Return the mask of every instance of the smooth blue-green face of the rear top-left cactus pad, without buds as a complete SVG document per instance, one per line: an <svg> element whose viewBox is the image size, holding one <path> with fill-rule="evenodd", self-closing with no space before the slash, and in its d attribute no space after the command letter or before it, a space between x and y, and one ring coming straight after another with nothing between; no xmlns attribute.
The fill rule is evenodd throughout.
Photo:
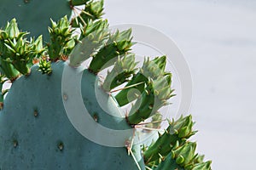
<svg viewBox="0 0 256 170"><path fill-rule="evenodd" d="M67 0L1 0L0 11L0 27L16 18L22 31L31 32L32 37L43 35L47 42L49 19L59 20L72 13Z"/></svg>

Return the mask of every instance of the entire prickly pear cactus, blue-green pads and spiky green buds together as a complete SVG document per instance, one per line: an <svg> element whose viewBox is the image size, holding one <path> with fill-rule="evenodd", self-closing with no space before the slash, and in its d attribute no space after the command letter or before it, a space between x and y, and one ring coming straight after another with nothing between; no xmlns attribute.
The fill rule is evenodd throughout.
<svg viewBox="0 0 256 170"><path fill-rule="evenodd" d="M137 127L145 125L149 132L160 127L159 110L174 96L166 56L145 58L142 68L137 68L131 29L109 31L108 21L101 19L102 1L55 3L59 11L52 8L53 1L42 5L1 2L0 23L9 22L0 30L0 169L210 170L211 161L203 161L195 152L196 144L189 141L196 133L192 116L169 121L165 133L159 133L150 145L150 141L133 143L141 135ZM77 5L84 6L78 9ZM34 11L35 6L40 7L38 14L26 18L25 11ZM11 13L13 8L16 14ZM45 8L52 13L44 13ZM71 18L74 9L79 14ZM34 22L41 15L42 20ZM14 16L17 20L11 19ZM47 26L49 42L44 43L39 35L47 37L43 29ZM23 30L38 37L28 38ZM79 34L74 33L78 30ZM84 61L89 66L81 71ZM100 73L105 69L108 74L102 79ZM65 71L70 81L73 75L81 75L81 99L94 125L131 131L122 146L96 143L73 126L65 105L76 99L76 89L63 90ZM11 88L3 88L5 82ZM131 92L131 88L137 90ZM131 105L131 110L120 116L125 105ZM146 123L150 118L152 122ZM97 128L90 131L101 134Z"/></svg>

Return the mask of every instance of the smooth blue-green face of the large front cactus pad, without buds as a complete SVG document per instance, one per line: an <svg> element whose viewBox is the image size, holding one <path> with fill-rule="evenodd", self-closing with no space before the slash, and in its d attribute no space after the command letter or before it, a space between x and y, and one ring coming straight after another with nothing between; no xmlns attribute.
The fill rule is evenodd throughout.
<svg viewBox="0 0 256 170"><path fill-rule="evenodd" d="M69 122L61 98L63 62L52 65L50 76L37 69L32 67L29 77L17 79L4 100L0 112L0 169L137 170L125 147L95 144ZM95 75L84 71L81 87L87 110L91 115L98 113L98 122L105 127L129 128L125 121L104 113L97 104L95 79ZM108 103L108 107L116 105ZM62 150L58 144L63 144ZM140 164L145 169L143 160Z"/></svg>

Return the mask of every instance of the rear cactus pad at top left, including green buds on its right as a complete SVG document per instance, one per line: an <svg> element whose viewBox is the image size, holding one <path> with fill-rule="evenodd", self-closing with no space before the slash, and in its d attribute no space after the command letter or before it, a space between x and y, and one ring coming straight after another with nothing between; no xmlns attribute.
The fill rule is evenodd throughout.
<svg viewBox="0 0 256 170"><path fill-rule="evenodd" d="M79 8L86 4L87 8ZM103 1L90 0L1 0L0 3L0 23L6 23L15 18L19 20L20 29L30 31L32 37L44 35L49 39L48 26L50 20L59 20L64 15L68 18L73 14L78 14L73 18L73 26L79 26L81 20L96 20L102 16ZM81 13L83 11L83 13Z"/></svg>

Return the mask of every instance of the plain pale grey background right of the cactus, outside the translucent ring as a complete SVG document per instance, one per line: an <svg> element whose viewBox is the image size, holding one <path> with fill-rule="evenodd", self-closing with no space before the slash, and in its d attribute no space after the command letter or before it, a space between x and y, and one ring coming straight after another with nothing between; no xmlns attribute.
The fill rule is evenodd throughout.
<svg viewBox="0 0 256 170"><path fill-rule="evenodd" d="M254 169L256 1L106 0L105 13L110 26L152 26L177 43L193 79L198 152L212 169Z"/></svg>

